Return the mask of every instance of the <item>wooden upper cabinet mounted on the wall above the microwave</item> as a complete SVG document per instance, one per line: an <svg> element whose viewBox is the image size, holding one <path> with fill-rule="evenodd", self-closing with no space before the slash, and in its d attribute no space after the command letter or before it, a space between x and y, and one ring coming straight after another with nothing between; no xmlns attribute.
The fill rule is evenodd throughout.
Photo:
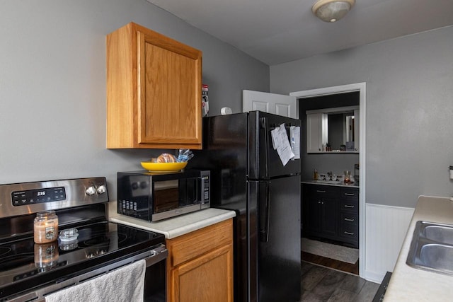
<svg viewBox="0 0 453 302"><path fill-rule="evenodd" d="M129 23L107 35L107 148L202 149L202 52Z"/></svg>

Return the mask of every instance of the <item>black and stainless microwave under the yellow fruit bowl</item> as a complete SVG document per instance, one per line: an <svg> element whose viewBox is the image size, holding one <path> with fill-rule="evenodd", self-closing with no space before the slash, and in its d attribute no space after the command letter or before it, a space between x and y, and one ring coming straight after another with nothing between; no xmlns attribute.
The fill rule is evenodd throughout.
<svg viewBox="0 0 453 302"><path fill-rule="evenodd" d="M117 173L117 212L159 221L210 207L210 171Z"/></svg>

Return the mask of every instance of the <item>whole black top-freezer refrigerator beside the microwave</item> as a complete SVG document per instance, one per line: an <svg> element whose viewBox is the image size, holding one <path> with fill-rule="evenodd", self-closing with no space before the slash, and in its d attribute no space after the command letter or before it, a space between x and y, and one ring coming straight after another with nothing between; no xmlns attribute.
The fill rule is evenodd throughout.
<svg viewBox="0 0 453 302"><path fill-rule="evenodd" d="M204 117L203 149L188 163L211 170L211 207L236 211L234 301L300 299L301 164L283 165L273 148L281 124L289 137L301 122L260 111Z"/></svg>

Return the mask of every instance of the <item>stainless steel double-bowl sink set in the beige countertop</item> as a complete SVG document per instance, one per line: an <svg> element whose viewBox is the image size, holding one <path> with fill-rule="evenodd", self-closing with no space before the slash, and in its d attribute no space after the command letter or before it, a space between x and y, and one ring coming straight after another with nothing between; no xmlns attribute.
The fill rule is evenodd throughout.
<svg viewBox="0 0 453 302"><path fill-rule="evenodd" d="M406 264L453 275L453 225L417 221Z"/></svg>

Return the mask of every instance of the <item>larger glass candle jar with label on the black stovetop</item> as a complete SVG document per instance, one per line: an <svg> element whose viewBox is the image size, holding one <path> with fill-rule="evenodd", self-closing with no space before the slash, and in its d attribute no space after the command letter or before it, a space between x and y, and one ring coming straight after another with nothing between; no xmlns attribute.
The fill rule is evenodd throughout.
<svg viewBox="0 0 453 302"><path fill-rule="evenodd" d="M58 216L55 211L36 214L34 221L35 243L50 243L58 238Z"/></svg>

